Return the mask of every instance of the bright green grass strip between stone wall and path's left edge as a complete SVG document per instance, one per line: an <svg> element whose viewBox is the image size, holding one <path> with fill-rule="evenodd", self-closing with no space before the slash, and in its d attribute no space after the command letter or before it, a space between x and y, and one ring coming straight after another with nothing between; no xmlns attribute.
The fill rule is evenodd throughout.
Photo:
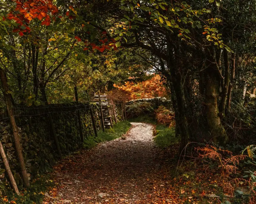
<svg viewBox="0 0 256 204"><path fill-rule="evenodd" d="M128 121L116 123L113 128L105 129L105 132L98 132L98 137L90 136L85 139L83 147L90 149L95 147L100 142L111 141L113 139L119 138L124 133L126 133L130 127L131 124Z"/></svg>

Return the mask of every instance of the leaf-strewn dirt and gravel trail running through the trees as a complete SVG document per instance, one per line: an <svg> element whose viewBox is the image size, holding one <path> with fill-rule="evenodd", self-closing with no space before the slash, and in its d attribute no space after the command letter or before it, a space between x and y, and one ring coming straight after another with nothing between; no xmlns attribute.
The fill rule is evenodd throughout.
<svg viewBox="0 0 256 204"><path fill-rule="evenodd" d="M131 124L125 139L83 150L56 166L57 190L45 203L179 203L153 126Z"/></svg>

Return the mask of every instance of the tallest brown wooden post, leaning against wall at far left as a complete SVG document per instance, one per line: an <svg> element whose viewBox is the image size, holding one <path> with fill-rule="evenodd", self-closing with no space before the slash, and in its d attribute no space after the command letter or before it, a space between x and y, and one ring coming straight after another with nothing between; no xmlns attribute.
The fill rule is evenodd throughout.
<svg viewBox="0 0 256 204"><path fill-rule="evenodd" d="M22 146L19 141L18 127L16 125L16 121L15 121L14 114L13 114L13 109L12 109L12 104L11 104L11 94L9 93L5 72L1 68L0 68L0 78L1 78L2 87L3 87L3 94L5 97L5 105L6 105L8 115L9 115L12 131L13 131L14 144L15 144L17 156L18 156L19 163L20 163L23 182L24 182L25 186L28 187L29 186L28 175L27 175L24 157L22 155Z"/></svg>

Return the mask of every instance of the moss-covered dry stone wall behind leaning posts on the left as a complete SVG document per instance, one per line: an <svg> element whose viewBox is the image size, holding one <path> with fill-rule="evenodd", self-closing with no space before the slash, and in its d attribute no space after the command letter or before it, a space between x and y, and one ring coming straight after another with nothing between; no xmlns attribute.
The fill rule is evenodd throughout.
<svg viewBox="0 0 256 204"><path fill-rule="evenodd" d="M80 109L83 136L94 135L89 108L92 108L97 129L100 129L98 108L89 104L54 104L50 112L55 131L60 143L61 152L67 155L81 148L77 110ZM50 170L58 161L56 144L50 136L47 108L44 106L20 107L16 123L23 147L27 172L31 178ZM0 121L0 139L4 146L10 167L18 185L21 184L20 167L17 160L12 131L8 119ZM0 178L4 177L4 165L0 163Z"/></svg>

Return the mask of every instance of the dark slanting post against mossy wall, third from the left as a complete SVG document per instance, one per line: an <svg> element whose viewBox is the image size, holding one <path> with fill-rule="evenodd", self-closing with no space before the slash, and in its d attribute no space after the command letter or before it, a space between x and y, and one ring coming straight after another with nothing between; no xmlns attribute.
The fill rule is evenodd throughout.
<svg viewBox="0 0 256 204"><path fill-rule="evenodd" d="M48 118L49 118L49 123L50 123L50 134L54 138L60 160L62 160L60 144L59 144L58 137L57 137L56 132L55 132L54 123L53 123L53 120L52 120L52 117L51 117L51 111L50 111L50 106L49 106L48 101L47 101L47 97L46 97L46 93L45 93L45 87L42 83L40 83L39 86L40 86L40 91L42 93L43 101L45 102L45 105L47 106Z"/></svg>

